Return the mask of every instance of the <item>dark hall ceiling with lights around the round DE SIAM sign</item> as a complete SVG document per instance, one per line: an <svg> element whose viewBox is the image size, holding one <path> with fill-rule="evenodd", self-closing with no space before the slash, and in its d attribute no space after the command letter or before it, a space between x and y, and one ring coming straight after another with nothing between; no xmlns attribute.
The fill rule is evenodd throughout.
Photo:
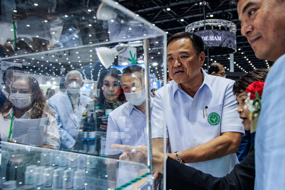
<svg viewBox="0 0 285 190"><path fill-rule="evenodd" d="M205 19L230 20L237 25L237 52L234 53L235 72L250 72L254 68L267 68L272 65L272 62L260 60L254 55L246 37L240 33L237 7L229 0L117 0L117 2L164 30L168 38L172 34L185 31L188 24L204 20L205 9ZM210 55L209 64L214 61L223 64L228 71L229 55ZM206 59L205 62L207 63L208 60ZM203 67L206 69L207 65Z"/></svg>

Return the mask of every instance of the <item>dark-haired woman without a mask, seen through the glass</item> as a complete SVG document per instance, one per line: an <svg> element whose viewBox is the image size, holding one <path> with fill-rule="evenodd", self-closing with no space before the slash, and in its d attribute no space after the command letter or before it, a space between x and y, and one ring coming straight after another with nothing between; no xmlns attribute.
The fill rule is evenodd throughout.
<svg viewBox="0 0 285 190"><path fill-rule="evenodd" d="M100 93L95 103L99 104L100 110L104 112L97 112L98 117L107 116L107 111L114 110L126 102L120 80L121 72L118 69L109 68L101 73L97 84ZM107 131L107 121L99 119L97 126L100 126L101 131Z"/></svg>

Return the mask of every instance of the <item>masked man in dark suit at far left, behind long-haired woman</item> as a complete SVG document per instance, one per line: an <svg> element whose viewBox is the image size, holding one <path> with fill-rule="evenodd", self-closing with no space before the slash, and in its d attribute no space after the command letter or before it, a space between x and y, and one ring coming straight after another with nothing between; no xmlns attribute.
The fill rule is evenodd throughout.
<svg viewBox="0 0 285 190"><path fill-rule="evenodd" d="M2 79L5 84L5 88L2 88L0 91L0 109L3 107L5 101L9 97L10 87L13 80L22 74L24 74L23 69L18 66L10 66L4 71Z"/></svg>

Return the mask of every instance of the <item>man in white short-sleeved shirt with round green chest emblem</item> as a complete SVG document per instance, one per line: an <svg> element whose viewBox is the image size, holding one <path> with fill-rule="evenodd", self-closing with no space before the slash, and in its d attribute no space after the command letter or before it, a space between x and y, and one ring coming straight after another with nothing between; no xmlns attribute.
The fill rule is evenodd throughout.
<svg viewBox="0 0 285 190"><path fill-rule="evenodd" d="M153 146L163 151L165 111L168 156L221 177L238 163L235 153L244 128L232 94L234 81L205 73L203 51L204 42L195 34L181 32L168 40L167 66L173 80L155 92Z"/></svg>

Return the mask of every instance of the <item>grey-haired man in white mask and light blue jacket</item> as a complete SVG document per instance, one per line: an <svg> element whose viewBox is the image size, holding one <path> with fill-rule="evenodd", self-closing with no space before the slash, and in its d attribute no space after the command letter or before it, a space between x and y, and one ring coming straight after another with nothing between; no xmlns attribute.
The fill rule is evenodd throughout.
<svg viewBox="0 0 285 190"><path fill-rule="evenodd" d="M58 119L61 149L69 150L75 145L85 105L92 101L87 96L80 96L79 90L83 84L79 71L69 71L64 81L67 90L62 95L49 99L49 108Z"/></svg>

